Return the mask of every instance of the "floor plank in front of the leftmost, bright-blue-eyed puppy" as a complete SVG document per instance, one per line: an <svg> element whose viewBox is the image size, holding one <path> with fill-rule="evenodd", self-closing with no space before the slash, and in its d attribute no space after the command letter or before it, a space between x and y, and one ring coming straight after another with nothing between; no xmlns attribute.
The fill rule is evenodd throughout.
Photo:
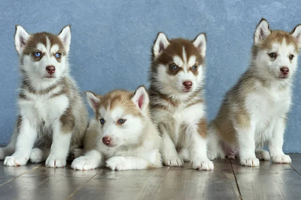
<svg viewBox="0 0 301 200"><path fill-rule="evenodd" d="M2 199L65 199L102 169L73 170L45 165L0 187Z"/></svg>

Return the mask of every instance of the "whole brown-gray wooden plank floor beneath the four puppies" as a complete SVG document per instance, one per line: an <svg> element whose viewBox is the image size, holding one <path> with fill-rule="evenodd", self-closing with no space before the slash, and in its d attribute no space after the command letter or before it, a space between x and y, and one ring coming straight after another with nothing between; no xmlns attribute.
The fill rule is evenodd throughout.
<svg viewBox="0 0 301 200"><path fill-rule="evenodd" d="M0 162L0 199L301 199L301 154L291 164L214 160L213 171L185 167L112 171L7 167Z"/></svg>

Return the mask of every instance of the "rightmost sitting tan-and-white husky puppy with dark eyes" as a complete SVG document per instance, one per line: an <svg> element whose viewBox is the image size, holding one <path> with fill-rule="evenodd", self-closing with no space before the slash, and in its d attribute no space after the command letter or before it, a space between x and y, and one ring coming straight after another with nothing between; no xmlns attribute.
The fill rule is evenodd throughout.
<svg viewBox="0 0 301 200"><path fill-rule="evenodd" d="M290 163L282 151L293 74L301 47L301 24L291 32L256 27L251 63L226 93L208 130L208 157L235 157L245 166L259 159ZM267 144L269 152L263 150Z"/></svg>

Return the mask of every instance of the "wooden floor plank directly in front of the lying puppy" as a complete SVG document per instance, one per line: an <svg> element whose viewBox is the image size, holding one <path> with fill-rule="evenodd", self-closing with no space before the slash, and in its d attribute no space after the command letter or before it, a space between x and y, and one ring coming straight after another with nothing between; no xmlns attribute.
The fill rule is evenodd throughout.
<svg viewBox="0 0 301 200"><path fill-rule="evenodd" d="M70 199L154 199L169 167L114 171L105 168Z"/></svg>

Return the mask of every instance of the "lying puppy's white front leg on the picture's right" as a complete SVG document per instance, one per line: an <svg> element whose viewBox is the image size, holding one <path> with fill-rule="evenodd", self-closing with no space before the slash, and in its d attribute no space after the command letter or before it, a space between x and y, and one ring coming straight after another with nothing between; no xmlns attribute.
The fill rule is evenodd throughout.
<svg viewBox="0 0 301 200"><path fill-rule="evenodd" d="M147 159L135 156L114 156L106 161L106 166L112 170L152 168Z"/></svg>

